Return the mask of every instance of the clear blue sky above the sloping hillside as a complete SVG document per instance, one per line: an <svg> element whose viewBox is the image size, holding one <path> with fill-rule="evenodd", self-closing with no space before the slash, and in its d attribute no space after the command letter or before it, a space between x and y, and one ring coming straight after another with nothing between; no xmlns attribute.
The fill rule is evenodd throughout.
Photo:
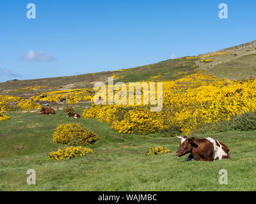
<svg viewBox="0 0 256 204"><path fill-rule="evenodd" d="M28 19L28 3L36 19ZM218 17L220 3L228 19ZM255 0L3 0L0 82L131 68L255 39Z"/></svg>

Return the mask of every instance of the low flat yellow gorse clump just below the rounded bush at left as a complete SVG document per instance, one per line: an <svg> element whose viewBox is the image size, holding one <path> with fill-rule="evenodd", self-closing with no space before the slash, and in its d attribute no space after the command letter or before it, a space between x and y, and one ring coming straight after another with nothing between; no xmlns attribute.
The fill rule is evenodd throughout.
<svg viewBox="0 0 256 204"><path fill-rule="evenodd" d="M74 157L82 157L86 156L87 154L93 153L92 149L84 148L84 147L66 147L65 149L59 149L56 152L50 152L48 154L48 159L56 159L62 160L67 158L74 158Z"/></svg>

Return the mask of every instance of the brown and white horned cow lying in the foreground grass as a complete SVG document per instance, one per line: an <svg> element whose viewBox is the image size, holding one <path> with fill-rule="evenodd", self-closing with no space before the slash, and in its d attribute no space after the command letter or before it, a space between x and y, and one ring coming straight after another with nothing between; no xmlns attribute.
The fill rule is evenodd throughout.
<svg viewBox="0 0 256 204"><path fill-rule="evenodd" d="M214 159L227 159L230 157L230 150L220 140L189 138L188 136L177 137L181 139L179 149L175 154L178 157L188 153L190 153L188 159L195 159L196 161L213 161Z"/></svg>

